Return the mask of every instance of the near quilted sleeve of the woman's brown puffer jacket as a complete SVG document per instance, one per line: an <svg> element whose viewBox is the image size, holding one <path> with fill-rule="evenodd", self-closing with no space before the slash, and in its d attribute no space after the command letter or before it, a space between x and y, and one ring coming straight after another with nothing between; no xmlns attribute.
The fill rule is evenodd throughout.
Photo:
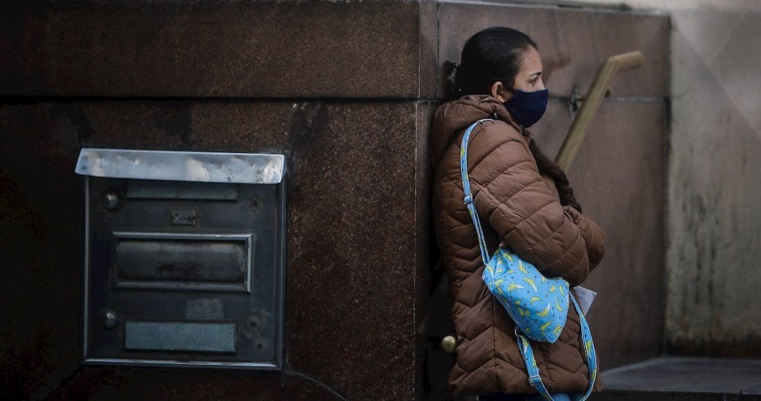
<svg viewBox="0 0 761 401"><path fill-rule="evenodd" d="M584 231L592 239L596 230L552 196L515 129L495 122L474 133L468 169L481 218L543 274L584 282L591 268Z"/></svg>

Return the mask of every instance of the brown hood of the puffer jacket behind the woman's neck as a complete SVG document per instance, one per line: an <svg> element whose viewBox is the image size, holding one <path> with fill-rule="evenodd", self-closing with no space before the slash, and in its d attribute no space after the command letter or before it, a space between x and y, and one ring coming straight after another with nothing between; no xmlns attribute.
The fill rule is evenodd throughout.
<svg viewBox="0 0 761 401"><path fill-rule="evenodd" d="M431 128L431 168L435 171L441 157L453 138L459 136L467 126L479 119L499 119L508 123L524 136L528 132L518 126L505 110L505 106L488 95L468 95L449 103L444 103L436 110Z"/></svg>

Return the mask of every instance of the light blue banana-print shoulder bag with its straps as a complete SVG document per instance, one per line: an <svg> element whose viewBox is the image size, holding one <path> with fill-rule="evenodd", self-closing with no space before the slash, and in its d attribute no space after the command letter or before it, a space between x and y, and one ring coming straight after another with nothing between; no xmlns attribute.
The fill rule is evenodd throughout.
<svg viewBox="0 0 761 401"><path fill-rule="evenodd" d="M552 396L549 395L542 383L529 339L540 342L556 342L568 316L568 300L573 302L581 320L581 339L584 340L587 366L589 367L589 389L583 396L579 394L581 398L578 399L587 399L592 393L594 379L597 377L597 358L595 358L594 343L587 320L584 318L584 313L575 298L570 296L568 282L563 278L546 278L536 267L521 260L511 250L498 249L489 258L481 221L476 207L473 205L467 164L470 132L473 132L476 125L485 121L492 121L492 119L479 119L466 129L465 135L463 135L463 144L460 147L460 173L463 177L465 205L467 205L470 217L473 219L473 226L476 228L479 246L481 247L481 258L486 266L482 275L483 281L514 320L515 335L526 362L529 383L546 399L552 399Z"/></svg>

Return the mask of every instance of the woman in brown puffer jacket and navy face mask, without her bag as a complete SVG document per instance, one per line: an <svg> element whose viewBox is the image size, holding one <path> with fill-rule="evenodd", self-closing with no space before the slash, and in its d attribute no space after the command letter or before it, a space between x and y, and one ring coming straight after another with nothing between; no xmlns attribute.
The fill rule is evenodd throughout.
<svg viewBox="0 0 761 401"><path fill-rule="evenodd" d="M454 297L457 355L449 375L455 396L533 399L514 323L484 285L476 231L463 204L460 143L473 129L468 167L489 252L510 247L547 277L572 286L603 256L603 231L581 214L565 173L541 153L525 128L544 113L548 99L542 62L527 35L492 27L468 40L455 75L457 100L436 110L431 164L436 239ZM533 343L543 382L555 399L589 385L580 323L574 308L557 342ZM595 389L600 390L600 375ZM509 395L508 395L509 394ZM539 398L540 399L540 398Z"/></svg>

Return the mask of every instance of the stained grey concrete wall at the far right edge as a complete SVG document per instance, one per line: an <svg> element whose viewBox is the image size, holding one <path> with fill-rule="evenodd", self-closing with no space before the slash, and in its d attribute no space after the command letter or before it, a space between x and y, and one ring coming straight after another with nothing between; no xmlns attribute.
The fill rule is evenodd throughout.
<svg viewBox="0 0 761 401"><path fill-rule="evenodd" d="M672 25L668 350L761 355L761 2L626 4Z"/></svg>

